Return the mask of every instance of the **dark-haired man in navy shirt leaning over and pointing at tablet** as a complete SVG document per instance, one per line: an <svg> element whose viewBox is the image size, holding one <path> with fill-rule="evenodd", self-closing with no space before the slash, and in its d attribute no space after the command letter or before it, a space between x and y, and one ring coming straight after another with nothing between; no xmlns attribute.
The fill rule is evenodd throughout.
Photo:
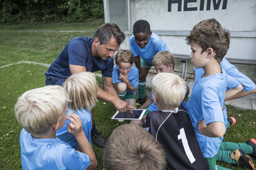
<svg viewBox="0 0 256 170"><path fill-rule="evenodd" d="M123 40L125 34L114 23L101 25L94 38L81 36L72 39L46 71L45 84L61 86L74 73L102 71L104 90L99 88L98 99L111 102L121 112L130 110L127 103L118 97L112 85L113 56ZM93 109L91 113L93 116ZM92 142L99 147L105 147L107 143L107 139L96 130L94 121Z"/></svg>

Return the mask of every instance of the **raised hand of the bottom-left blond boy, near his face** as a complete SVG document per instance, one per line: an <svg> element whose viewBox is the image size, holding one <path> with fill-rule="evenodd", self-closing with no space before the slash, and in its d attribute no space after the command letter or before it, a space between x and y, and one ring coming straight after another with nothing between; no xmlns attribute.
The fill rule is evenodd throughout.
<svg viewBox="0 0 256 170"><path fill-rule="evenodd" d="M67 132L73 134L74 136L83 132L82 121L77 114L69 114L67 120L71 121L71 123L67 125Z"/></svg>

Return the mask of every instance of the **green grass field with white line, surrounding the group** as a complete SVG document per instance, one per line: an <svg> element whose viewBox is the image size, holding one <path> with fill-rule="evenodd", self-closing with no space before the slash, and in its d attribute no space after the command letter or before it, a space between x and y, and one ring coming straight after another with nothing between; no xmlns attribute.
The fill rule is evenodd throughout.
<svg viewBox="0 0 256 170"><path fill-rule="evenodd" d="M47 66L56 59L67 42L76 36L92 37L103 22L103 19L98 19L85 23L0 25L0 169L21 169L21 127L14 117L17 98L26 90L44 86ZM77 32L60 32L62 30ZM99 77L97 80L102 84ZM228 116L235 117L237 123L227 130L224 141L245 142L256 137L256 111L239 110L232 106L227 108ZM114 106L104 101L99 101L94 108L96 127L106 137L122 124L110 119L115 111ZM98 160L96 169L103 169L103 149L93 147ZM240 169L223 162L218 164Z"/></svg>

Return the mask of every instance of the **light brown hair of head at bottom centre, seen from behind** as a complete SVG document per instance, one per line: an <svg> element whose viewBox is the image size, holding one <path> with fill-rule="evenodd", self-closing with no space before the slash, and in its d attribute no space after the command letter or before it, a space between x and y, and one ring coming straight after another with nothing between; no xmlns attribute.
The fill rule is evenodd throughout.
<svg viewBox="0 0 256 170"><path fill-rule="evenodd" d="M116 127L104 149L105 170L165 169L162 146L149 132L134 124Z"/></svg>

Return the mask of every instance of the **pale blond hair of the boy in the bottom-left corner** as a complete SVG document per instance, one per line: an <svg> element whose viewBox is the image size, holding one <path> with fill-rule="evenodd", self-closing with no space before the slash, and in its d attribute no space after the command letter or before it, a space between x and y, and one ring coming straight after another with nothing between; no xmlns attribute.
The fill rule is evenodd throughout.
<svg viewBox="0 0 256 170"><path fill-rule="evenodd" d="M34 137L47 134L61 120L70 101L61 86L44 86L28 90L19 97L14 112L17 121Z"/></svg>

